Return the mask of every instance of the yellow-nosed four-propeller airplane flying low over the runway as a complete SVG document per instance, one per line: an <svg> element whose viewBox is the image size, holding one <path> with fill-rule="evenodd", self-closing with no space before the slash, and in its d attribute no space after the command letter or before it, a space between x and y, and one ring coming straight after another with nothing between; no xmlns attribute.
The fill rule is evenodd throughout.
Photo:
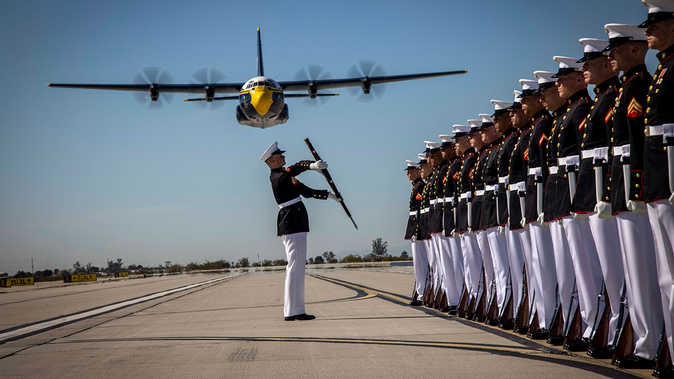
<svg viewBox="0 0 674 379"><path fill-rule="evenodd" d="M164 74L158 75L159 69L152 67L156 78L168 78L173 82L171 76ZM272 78L264 75L264 65L262 64L262 41L260 39L259 26L257 27L257 76L249 79L245 83L206 83L206 84L166 84L158 82L142 84L47 84L54 88L84 88L94 90L117 90L117 91L135 91L146 92L150 94L150 100L156 102L160 100L161 93L189 93L204 94L203 98L186 98L183 101L206 101L211 103L219 100L239 100L237 105L237 121L241 125L251 127L266 128L285 123L288 121L288 105L286 98L311 98L315 99L321 96L338 96L339 94L319 93L319 90L330 90L333 88L345 88L361 86L363 94L370 94L373 85L385 84L390 82L402 82L403 80L414 80L423 78L436 78L438 76L450 76L457 74L466 74L467 70L459 71L441 71L425 74L407 74L396 76L368 76L364 73L358 78L344 79L322 79L309 78L307 80L294 80L290 82L276 82ZM139 74L140 75L140 74ZM156 79L155 78L155 79ZM135 80L134 80L135 82ZM307 93L286 93L306 91ZM236 93L233 96L216 96L216 94ZM139 94L136 93L139 101ZM141 95L147 96L147 95ZM159 103L162 105L162 103Z"/></svg>

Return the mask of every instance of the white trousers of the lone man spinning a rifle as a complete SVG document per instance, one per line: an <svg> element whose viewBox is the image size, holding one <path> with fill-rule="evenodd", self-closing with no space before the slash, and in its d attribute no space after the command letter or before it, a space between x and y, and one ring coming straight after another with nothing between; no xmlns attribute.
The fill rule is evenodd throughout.
<svg viewBox="0 0 674 379"><path fill-rule="evenodd" d="M281 236L286 247L286 284L283 293L283 316L296 316L304 310L304 272L307 262L307 234L294 233Z"/></svg>

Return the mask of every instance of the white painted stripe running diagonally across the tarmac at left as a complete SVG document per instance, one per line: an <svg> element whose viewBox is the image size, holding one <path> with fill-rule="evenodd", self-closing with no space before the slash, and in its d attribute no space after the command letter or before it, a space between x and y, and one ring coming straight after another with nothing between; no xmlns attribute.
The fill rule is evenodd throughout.
<svg viewBox="0 0 674 379"><path fill-rule="evenodd" d="M38 322L37 324L32 324L32 325L26 326L24 328L19 328L19 329L16 329L16 330L11 330L9 332L5 332L5 333L0 334L0 343L3 343L4 341L6 341L8 339L16 339L16 337L20 337L24 334L34 334L35 332L38 332L38 331L43 330L43 329L54 328L55 326L59 326L61 324L67 324L67 323L70 323L70 322L73 322L73 321L82 320L84 318L90 318L90 317L96 316L98 314L103 314L103 313L106 313L106 312L111 312L113 310L117 310L119 308L128 307L129 305L142 303L144 301L156 299L158 297L164 297L166 295L171 295L172 293L185 291L187 289L200 287L202 285L207 285L207 284L210 284L210 283L215 283L215 282L222 281L224 279L233 278L235 276L239 276L239 275L242 275L242 274L243 273L234 274L234 275L230 275L230 276L223 276L222 278L212 279L210 281L195 283L193 285L186 285L185 287L179 287L179 288L176 288L176 289L170 289L168 291L153 293L152 295L139 297L139 298L133 299L133 300L122 301L121 303L116 303L116 304L113 304L113 305L106 305L106 306L101 307L101 308L96 308L95 310L81 312L81 313L78 313L78 314L71 314L70 316L57 318L55 320Z"/></svg>

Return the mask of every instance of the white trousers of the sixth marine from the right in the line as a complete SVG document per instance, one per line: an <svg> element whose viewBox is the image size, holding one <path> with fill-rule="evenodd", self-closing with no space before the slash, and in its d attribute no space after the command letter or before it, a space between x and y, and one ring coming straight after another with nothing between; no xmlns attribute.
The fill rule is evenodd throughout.
<svg viewBox="0 0 674 379"><path fill-rule="evenodd" d="M553 250L551 228L541 227L538 221L529 224L532 246L532 267L534 272L535 312L539 314L539 328L549 328L557 307L557 266ZM534 312L530 314L530 320Z"/></svg>

